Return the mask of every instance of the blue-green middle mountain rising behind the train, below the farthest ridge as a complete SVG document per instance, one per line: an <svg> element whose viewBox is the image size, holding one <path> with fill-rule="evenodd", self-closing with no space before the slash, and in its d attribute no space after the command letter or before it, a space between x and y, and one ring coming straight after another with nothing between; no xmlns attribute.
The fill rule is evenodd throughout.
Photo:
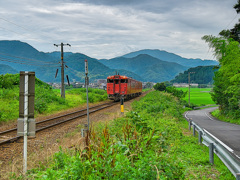
<svg viewBox="0 0 240 180"><path fill-rule="evenodd" d="M120 68L132 71L146 81L163 82L173 79L179 72L187 69L174 62L166 62L147 54L140 54L133 58L118 57L110 60L100 60L109 68Z"/></svg>

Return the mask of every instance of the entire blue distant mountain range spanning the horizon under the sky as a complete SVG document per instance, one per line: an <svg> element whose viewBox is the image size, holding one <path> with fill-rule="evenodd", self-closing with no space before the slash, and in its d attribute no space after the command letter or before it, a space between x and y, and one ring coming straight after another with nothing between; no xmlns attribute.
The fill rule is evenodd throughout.
<svg viewBox="0 0 240 180"><path fill-rule="evenodd" d="M60 52L39 52L21 41L0 41L0 74L35 71L45 82L60 82L55 79L56 69L60 70ZM140 81L163 82L174 79L189 67L217 65L217 61L186 59L160 50L141 50L109 60L97 60L81 53L64 53L67 67L65 74L70 81L84 81L84 60L89 64L89 78L106 79L116 72ZM59 71L60 72L60 71Z"/></svg>

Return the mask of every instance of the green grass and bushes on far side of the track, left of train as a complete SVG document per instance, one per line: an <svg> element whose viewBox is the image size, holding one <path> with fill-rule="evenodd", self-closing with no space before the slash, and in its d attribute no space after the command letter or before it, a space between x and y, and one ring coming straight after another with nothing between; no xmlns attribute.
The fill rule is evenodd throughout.
<svg viewBox="0 0 240 180"><path fill-rule="evenodd" d="M86 103L86 89L66 90L66 99L60 97L60 91L36 78L35 115L77 107ZM89 88L89 102L95 103L107 99L104 90ZM19 114L19 74L0 75L0 122L16 120Z"/></svg>

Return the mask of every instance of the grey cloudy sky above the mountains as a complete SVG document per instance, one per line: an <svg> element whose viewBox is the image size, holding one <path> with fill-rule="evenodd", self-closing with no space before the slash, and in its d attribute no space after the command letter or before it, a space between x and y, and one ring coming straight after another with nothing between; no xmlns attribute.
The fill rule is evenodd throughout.
<svg viewBox="0 0 240 180"><path fill-rule="evenodd" d="M238 21L237 0L0 0L0 40L39 51L113 58L160 49L186 58L214 59L203 35ZM0 50L1 52L1 50Z"/></svg>

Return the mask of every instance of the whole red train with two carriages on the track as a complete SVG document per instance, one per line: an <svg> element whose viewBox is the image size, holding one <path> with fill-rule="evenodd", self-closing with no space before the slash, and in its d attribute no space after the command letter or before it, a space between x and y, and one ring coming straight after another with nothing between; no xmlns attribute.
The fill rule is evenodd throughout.
<svg viewBox="0 0 240 180"><path fill-rule="evenodd" d="M107 94L109 99L118 101L121 96L130 99L142 94L142 82L135 79L114 75L107 78Z"/></svg>

